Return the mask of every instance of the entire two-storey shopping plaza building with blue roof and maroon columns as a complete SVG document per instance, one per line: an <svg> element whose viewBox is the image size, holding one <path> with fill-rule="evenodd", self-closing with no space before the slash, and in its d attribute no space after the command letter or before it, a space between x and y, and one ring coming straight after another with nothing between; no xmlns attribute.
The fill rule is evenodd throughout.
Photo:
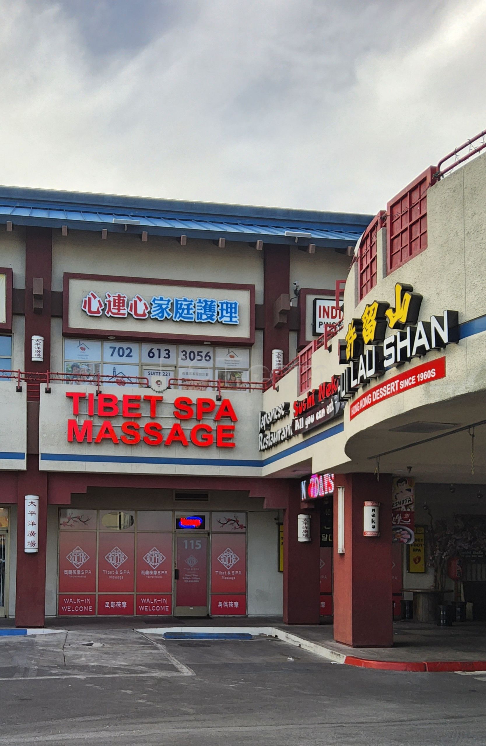
<svg viewBox="0 0 486 746"><path fill-rule="evenodd" d="M479 618L486 160L444 172L374 217L1 188L0 613Z"/></svg>

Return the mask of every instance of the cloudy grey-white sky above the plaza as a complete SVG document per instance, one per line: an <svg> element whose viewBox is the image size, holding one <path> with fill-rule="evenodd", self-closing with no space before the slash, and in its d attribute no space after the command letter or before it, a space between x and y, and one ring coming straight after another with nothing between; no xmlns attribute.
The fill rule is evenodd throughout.
<svg viewBox="0 0 486 746"><path fill-rule="evenodd" d="M0 183L376 213L486 128L486 0L0 0Z"/></svg>

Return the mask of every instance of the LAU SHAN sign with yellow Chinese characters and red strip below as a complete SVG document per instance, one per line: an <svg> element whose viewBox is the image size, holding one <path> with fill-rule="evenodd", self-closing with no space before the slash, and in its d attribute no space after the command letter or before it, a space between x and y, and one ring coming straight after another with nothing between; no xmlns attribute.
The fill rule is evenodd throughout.
<svg viewBox="0 0 486 746"><path fill-rule="evenodd" d="M389 303L373 301L367 304L360 319L349 322L345 339L339 340L339 362L347 365L340 375L340 401L352 398L361 386L366 386L390 368L443 349L446 345L457 344L458 312L445 310L443 316L431 316L428 322L418 321L422 299L411 285L396 283L394 308ZM385 336L387 327L396 333ZM367 345L370 348L366 348ZM383 398L444 375L445 362L442 364L439 360L400 374L388 380L384 389L383 386L371 389L364 395L366 400L359 405L359 400L355 401L350 418Z"/></svg>

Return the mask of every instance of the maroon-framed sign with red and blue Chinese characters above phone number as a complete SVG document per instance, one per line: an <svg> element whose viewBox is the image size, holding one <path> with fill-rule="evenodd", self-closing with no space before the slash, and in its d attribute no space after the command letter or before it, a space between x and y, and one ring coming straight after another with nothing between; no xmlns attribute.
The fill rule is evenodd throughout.
<svg viewBox="0 0 486 746"><path fill-rule="evenodd" d="M64 290L64 333L253 342L254 286L65 275Z"/></svg>

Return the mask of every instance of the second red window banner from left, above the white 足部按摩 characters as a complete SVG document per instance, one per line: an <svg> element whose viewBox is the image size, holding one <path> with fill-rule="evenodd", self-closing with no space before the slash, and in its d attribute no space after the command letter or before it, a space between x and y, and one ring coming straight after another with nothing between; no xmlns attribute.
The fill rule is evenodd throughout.
<svg viewBox="0 0 486 746"><path fill-rule="evenodd" d="M100 593L133 592L134 539L133 533L112 531L99 534L98 591ZM132 599L132 613L133 606ZM98 608L100 608L99 604Z"/></svg>

